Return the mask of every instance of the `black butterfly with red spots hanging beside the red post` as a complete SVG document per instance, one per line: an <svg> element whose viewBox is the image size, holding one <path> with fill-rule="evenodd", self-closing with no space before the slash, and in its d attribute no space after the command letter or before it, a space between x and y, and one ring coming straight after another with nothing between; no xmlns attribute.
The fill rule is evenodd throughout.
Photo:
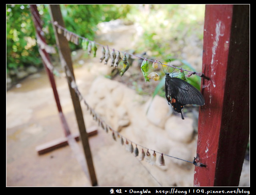
<svg viewBox="0 0 256 195"><path fill-rule="evenodd" d="M165 97L168 104L172 104L174 111L181 113L182 119L184 105L204 105L204 97L194 86L180 78L171 77L169 73L165 76Z"/></svg>

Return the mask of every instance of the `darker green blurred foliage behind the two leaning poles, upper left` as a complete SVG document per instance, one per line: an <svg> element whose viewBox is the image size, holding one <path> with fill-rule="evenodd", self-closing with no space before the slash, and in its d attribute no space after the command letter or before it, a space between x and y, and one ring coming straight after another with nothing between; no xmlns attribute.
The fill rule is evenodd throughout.
<svg viewBox="0 0 256 195"><path fill-rule="evenodd" d="M93 40L99 22L126 16L130 6L122 5L60 5L66 28L80 36ZM29 5L6 5L6 71L41 65L36 45L35 29ZM43 21L44 36L49 45L54 45L54 32L50 24L48 5L38 5ZM49 28L50 27L50 28ZM80 45L70 43L71 50Z"/></svg>

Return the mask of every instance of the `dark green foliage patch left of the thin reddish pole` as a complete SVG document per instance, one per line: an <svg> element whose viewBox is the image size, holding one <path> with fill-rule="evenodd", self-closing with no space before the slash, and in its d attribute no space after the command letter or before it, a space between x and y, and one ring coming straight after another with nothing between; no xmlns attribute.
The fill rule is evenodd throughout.
<svg viewBox="0 0 256 195"><path fill-rule="evenodd" d="M33 25L27 5L6 6L7 71L31 62L40 64Z"/></svg>

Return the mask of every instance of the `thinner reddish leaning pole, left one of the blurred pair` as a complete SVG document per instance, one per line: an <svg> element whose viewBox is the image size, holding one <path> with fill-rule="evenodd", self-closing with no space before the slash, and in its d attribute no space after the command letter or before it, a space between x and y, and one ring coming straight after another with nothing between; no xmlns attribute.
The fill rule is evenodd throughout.
<svg viewBox="0 0 256 195"><path fill-rule="evenodd" d="M42 35L43 31L42 31L41 20L40 20L40 15L38 13L36 5L30 5L30 10L31 10L34 25L35 25L35 28L36 28L36 35L41 39L42 42L44 42L46 44L44 36ZM48 74L48 78L49 78L50 84L52 86L52 91L53 91L54 98L55 98L55 101L56 101L56 105L57 105L57 108L58 108L58 112L59 112L59 115L60 115L60 120L61 120L62 126L64 128L64 133L65 133L66 136L68 136L68 135L70 135L70 130L69 130L68 124L66 122L66 119L65 119L65 117L62 113L62 108L61 108L61 105L60 105L60 99L59 99L58 92L57 92L57 89L56 89L54 76L53 76L52 72L49 70L48 66L46 66L46 64L48 62L50 62L50 57L49 57L49 54L45 51L45 49L42 49L42 53L44 55L44 56L42 56L42 62L44 64L44 68L46 70L46 73ZM48 62L45 62L45 60L48 60Z"/></svg>

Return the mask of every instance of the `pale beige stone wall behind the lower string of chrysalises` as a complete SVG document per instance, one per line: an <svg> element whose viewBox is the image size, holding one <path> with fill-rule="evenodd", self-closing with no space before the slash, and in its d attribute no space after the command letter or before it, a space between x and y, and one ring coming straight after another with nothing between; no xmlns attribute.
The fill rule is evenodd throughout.
<svg viewBox="0 0 256 195"><path fill-rule="evenodd" d="M98 77L92 83L86 101L114 130L134 142L134 146L138 143L189 161L193 161L196 156L193 119L186 116L182 120L180 115L172 113L172 107L166 99L140 96L124 84ZM116 144L120 149L121 144ZM150 167L150 171L155 174L162 175L159 171L164 172L164 177L158 178L160 183L166 186L193 185L192 163L166 156L164 158L165 166L159 166L156 162L155 166ZM170 176L172 179L168 180Z"/></svg>

